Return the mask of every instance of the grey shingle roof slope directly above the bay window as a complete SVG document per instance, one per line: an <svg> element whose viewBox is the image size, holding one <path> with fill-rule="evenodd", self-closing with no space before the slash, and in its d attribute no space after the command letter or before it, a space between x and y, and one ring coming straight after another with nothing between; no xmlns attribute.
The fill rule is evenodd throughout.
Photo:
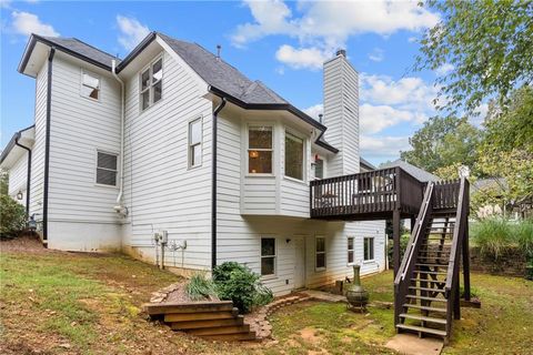
<svg viewBox="0 0 533 355"><path fill-rule="evenodd" d="M288 103L274 91L266 88L261 81L251 81L234 67L217 58L217 55L200 44L180 41L159 32L158 34L208 84L245 103Z"/></svg>

